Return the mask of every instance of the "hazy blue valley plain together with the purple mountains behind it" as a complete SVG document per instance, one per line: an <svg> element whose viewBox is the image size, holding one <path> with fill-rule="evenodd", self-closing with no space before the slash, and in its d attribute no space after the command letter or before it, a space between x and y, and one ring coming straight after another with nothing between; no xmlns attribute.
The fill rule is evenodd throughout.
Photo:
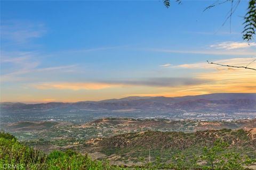
<svg viewBox="0 0 256 170"><path fill-rule="evenodd" d="M84 123L104 117L231 121L256 117L256 94L183 97L126 97L76 103L1 103L1 123L66 121Z"/></svg>

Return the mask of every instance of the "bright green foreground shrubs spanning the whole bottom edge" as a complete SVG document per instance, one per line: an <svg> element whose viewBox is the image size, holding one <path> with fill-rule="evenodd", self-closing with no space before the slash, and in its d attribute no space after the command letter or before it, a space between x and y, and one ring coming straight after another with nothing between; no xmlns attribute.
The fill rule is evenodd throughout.
<svg viewBox="0 0 256 170"><path fill-rule="evenodd" d="M149 132L150 133L150 132ZM107 142L107 141L106 141ZM108 143L109 144L109 143ZM115 144L114 144L115 145ZM75 151L52 151L49 155L22 145L8 133L0 133L0 167L9 169L249 169L254 159L228 150L230 145L215 140L210 147L204 147L201 155L186 157L175 154L169 163L161 158L139 166L110 165L106 160L92 160L87 154ZM119 148L122 146L119 146ZM141 160L142 161L142 160ZM144 161L144 160L143 160Z"/></svg>

